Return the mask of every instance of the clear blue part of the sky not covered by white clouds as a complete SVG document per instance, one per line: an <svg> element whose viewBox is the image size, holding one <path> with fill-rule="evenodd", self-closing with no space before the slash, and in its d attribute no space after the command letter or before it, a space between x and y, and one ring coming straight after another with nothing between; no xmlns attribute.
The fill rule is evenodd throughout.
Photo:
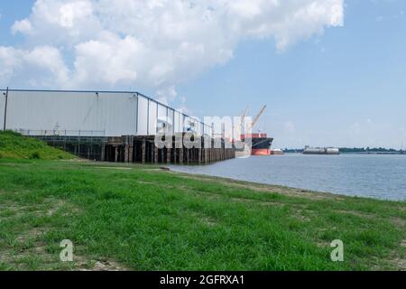
<svg viewBox="0 0 406 289"><path fill-rule="evenodd" d="M0 46L31 45L11 27L31 14L33 3L1 2ZM244 37L232 58L177 80L177 97L170 103L198 117L236 116L247 106L254 115L266 104L257 128L275 137L277 147L400 148L406 145L405 13L402 0L352 0L345 2L342 27L325 28L283 51L273 37ZM156 94L147 81L132 83L112 89ZM9 85L32 83L17 77ZM89 85L97 89L97 83Z"/></svg>

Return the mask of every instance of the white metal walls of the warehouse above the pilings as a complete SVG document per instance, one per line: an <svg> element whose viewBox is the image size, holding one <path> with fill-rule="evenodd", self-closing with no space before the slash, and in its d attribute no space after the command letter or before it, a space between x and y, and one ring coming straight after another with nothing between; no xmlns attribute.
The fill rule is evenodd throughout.
<svg viewBox="0 0 406 289"><path fill-rule="evenodd" d="M5 98L0 96L1 128L4 108ZM7 129L12 130L155 135L158 119L171 123L174 133L191 129L203 135L203 126L197 120L133 92L9 91Z"/></svg>

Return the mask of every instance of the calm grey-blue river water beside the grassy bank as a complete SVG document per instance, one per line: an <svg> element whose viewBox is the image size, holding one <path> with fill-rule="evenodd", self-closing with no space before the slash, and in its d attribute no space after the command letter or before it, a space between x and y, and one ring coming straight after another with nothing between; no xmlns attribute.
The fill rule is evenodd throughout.
<svg viewBox="0 0 406 289"><path fill-rule="evenodd" d="M171 170L262 182L311 191L406 200L406 155L341 154L253 156Z"/></svg>

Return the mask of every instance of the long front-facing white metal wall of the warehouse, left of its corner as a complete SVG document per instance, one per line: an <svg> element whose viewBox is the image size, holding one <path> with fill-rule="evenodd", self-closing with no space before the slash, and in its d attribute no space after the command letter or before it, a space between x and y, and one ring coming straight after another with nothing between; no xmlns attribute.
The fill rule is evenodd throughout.
<svg viewBox="0 0 406 289"><path fill-rule="evenodd" d="M137 97L125 93L10 91L7 126L135 135Z"/></svg>

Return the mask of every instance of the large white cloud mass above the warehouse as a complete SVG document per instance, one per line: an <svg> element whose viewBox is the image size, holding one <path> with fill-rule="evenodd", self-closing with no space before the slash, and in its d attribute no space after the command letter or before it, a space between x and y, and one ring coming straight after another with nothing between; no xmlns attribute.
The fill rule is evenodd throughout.
<svg viewBox="0 0 406 289"><path fill-rule="evenodd" d="M283 51L342 25L343 1L37 0L12 27L27 48L0 47L0 73L53 88L148 87L171 101L174 85L229 61L238 42L272 37Z"/></svg>

